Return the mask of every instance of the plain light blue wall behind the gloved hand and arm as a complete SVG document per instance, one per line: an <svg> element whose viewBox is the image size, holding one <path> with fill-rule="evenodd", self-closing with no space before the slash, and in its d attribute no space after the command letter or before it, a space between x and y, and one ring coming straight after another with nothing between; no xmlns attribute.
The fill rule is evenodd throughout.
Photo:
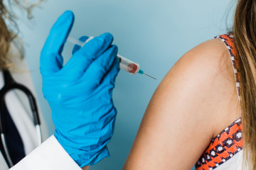
<svg viewBox="0 0 256 170"><path fill-rule="evenodd" d="M53 133L54 125L48 103L41 92L39 56L50 27L65 10L75 13L71 35L100 35L110 32L119 54L141 64L147 74L132 76L121 71L114 89L118 115L112 141L111 158L92 169L122 169L139 123L154 90L166 72L185 52L199 43L226 33L226 16L231 0L48 0L33 10L34 19L21 15L19 25L24 40L26 61L31 69L43 116ZM233 12L228 23L232 23ZM72 45L63 55L70 57Z"/></svg>

